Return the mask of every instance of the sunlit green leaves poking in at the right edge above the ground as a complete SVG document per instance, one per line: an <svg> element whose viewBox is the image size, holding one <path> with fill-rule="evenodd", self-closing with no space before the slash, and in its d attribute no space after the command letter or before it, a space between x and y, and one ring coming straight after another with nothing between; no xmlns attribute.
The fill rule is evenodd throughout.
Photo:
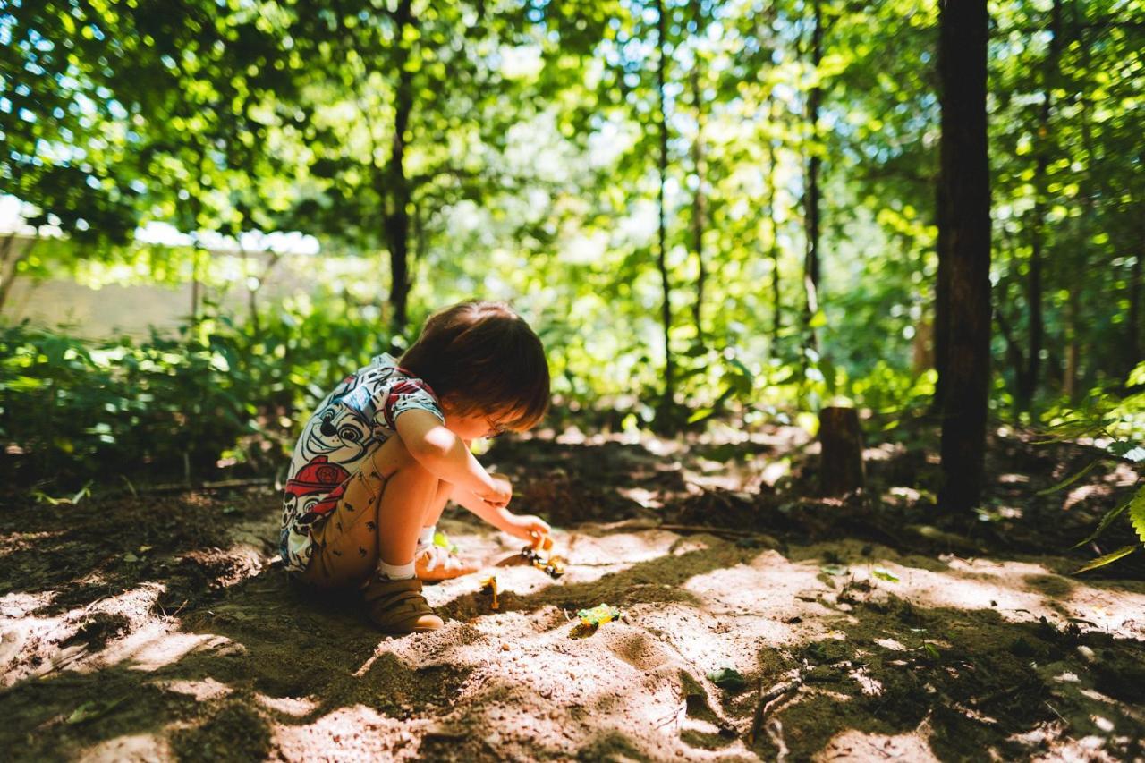
<svg viewBox="0 0 1145 763"><path fill-rule="evenodd" d="M1139 388L1143 385L1145 385L1145 363L1137 365L1132 370L1129 375L1127 386L1132 390L1135 387ZM1142 471L1145 470L1145 392L1130 394L1122 399L1099 394L1083 410L1071 410L1057 417L1051 412L1050 422L1049 436L1042 440L1042 443L1087 438L1101 447L1105 453L1095 458L1084 469L1071 474L1057 485L1040 491L1039 495L1049 495L1063 490L1088 474L1099 464L1111 461L1129 463L1137 472L1136 489L1129 500L1107 511L1093 532L1076 543L1074 548L1076 549L1096 541L1122 514L1126 514L1127 520L1137 534L1137 542L1101 554L1097 559L1077 568L1074 574L1104 567L1110 563L1128 557L1140 548L1145 548L1145 481L1142 480Z"/></svg>

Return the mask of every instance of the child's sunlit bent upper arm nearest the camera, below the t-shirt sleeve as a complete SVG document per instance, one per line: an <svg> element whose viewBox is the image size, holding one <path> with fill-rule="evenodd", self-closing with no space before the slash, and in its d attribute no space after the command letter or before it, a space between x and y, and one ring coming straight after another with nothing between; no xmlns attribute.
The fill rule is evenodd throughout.
<svg viewBox="0 0 1145 763"><path fill-rule="evenodd" d="M493 479L465 441L445 428L436 416L426 410L406 410L394 425L410 455L439 479L457 486L455 491L472 493L493 508L508 505L513 497L508 481Z"/></svg>

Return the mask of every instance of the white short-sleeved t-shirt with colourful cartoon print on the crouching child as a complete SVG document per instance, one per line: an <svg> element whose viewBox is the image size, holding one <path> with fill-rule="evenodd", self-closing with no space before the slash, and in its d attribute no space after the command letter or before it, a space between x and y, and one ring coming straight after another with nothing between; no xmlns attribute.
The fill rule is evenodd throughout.
<svg viewBox="0 0 1145 763"><path fill-rule="evenodd" d="M318 404L294 445L286 475L279 550L287 569L306 569L310 532L330 517L347 481L394 434L397 417L414 408L445 422L429 385L385 354L342 379Z"/></svg>

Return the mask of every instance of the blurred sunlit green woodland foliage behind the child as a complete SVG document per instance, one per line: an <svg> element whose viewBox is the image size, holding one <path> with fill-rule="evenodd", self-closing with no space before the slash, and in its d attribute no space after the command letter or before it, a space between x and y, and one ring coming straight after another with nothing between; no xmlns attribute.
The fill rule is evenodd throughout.
<svg viewBox="0 0 1145 763"><path fill-rule="evenodd" d="M990 404L1037 424L1142 360L1145 5L990 19ZM540 332L558 427L839 398L893 427L934 388L937 25L934 0L9 0L7 458L276 469L334 382L473 296ZM184 327L6 309L47 280L172 289Z"/></svg>

